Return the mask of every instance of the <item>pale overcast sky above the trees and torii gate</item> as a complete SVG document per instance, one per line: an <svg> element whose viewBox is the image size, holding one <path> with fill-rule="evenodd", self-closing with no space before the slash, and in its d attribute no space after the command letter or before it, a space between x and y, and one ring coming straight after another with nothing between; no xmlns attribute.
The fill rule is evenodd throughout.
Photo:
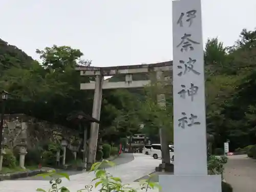
<svg viewBox="0 0 256 192"><path fill-rule="evenodd" d="M255 0L202 0L203 39L232 45L256 27ZM0 0L0 38L38 59L52 45L80 49L93 66L172 59L171 0Z"/></svg>

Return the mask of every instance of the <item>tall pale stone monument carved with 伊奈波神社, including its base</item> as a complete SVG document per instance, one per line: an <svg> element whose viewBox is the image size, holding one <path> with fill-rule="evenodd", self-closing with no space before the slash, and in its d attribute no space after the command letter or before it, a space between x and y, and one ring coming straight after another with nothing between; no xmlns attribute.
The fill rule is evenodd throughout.
<svg viewBox="0 0 256 192"><path fill-rule="evenodd" d="M159 176L163 192L221 192L207 175L201 0L173 2L174 175Z"/></svg>

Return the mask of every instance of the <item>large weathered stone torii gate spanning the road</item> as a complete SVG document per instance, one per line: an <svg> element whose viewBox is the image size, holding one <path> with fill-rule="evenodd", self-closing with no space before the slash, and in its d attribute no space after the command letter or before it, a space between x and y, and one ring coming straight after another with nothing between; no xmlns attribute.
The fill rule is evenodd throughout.
<svg viewBox="0 0 256 192"><path fill-rule="evenodd" d="M142 88L151 83L151 80L137 80L134 81L132 75L135 73L150 73L156 72L157 79L161 78L162 72L173 70L173 62L160 62L154 64L142 64L132 66L116 66L116 67L78 67L81 76L94 76L95 82L81 83L81 90L94 90L93 112L92 117L100 120L102 89L128 89L128 88ZM117 74L125 74L125 81L109 82L109 79L104 80L104 76L114 76ZM170 76L172 73L170 73ZM165 106L164 94L157 96L158 103ZM91 124L91 135L89 143L89 158L88 167L95 161L97 141L98 141L99 124L93 122Z"/></svg>

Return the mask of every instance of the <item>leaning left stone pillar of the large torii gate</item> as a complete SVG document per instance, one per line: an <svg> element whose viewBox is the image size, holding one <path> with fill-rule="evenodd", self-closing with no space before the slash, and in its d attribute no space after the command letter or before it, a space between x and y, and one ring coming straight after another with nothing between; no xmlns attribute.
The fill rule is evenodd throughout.
<svg viewBox="0 0 256 192"><path fill-rule="evenodd" d="M96 76L92 117L97 120L100 119L102 84L103 84L103 76L102 75ZM90 168L92 164L95 162L98 134L99 134L99 124L96 122L91 123L89 158L88 158L88 164L87 164L88 168Z"/></svg>

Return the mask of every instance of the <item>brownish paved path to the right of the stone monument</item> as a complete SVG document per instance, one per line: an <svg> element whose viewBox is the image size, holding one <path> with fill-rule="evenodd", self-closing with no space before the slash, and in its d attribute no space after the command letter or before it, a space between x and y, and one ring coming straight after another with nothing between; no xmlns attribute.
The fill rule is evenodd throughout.
<svg viewBox="0 0 256 192"><path fill-rule="evenodd" d="M230 156L225 166L224 179L233 187L233 192L256 191L256 160L247 155Z"/></svg>

